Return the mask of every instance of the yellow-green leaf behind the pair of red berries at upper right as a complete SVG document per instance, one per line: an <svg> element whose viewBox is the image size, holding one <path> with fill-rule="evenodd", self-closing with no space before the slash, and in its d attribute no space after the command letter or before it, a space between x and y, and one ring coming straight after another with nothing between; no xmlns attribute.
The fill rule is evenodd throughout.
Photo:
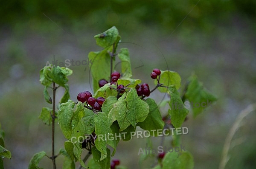
<svg viewBox="0 0 256 169"><path fill-rule="evenodd" d="M177 72L166 70L161 71L160 75L160 84L163 84L164 86L171 86L175 85L176 89L178 90L181 86L181 79L180 75ZM157 79L154 81L154 84L157 85ZM157 88L160 92L168 92L168 89L166 87L158 87Z"/></svg>

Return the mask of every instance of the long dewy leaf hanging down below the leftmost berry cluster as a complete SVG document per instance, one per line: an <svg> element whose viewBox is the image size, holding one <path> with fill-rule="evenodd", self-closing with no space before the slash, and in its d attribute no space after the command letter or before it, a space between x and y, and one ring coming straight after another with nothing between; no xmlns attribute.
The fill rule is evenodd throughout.
<svg viewBox="0 0 256 169"><path fill-rule="evenodd" d="M111 139L109 139L110 134L113 135L108 116L105 113L98 113L94 118L95 122L95 134L97 139L95 140L95 146L101 152L100 160L102 161L108 155L107 153L107 143L113 146ZM115 147L113 147L115 149Z"/></svg>

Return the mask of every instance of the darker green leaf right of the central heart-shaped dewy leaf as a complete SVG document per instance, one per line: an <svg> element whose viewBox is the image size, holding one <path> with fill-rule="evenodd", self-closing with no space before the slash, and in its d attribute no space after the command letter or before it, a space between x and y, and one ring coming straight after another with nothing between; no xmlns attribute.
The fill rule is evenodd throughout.
<svg viewBox="0 0 256 169"><path fill-rule="evenodd" d="M157 136L156 130L163 130L164 122L156 102L153 99L148 98L146 99L146 103L149 106L148 116L143 122L138 123L138 126L144 130L150 131L151 135Z"/></svg>

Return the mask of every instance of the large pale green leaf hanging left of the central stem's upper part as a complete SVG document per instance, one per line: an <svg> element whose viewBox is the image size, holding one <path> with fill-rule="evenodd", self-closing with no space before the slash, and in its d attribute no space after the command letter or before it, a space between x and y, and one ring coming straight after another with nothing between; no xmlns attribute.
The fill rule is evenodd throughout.
<svg viewBox="0 0 256 169"><path fill-rule="evenodd" d="M108 80L110 77L110 55L107 50L102 50L100 52L90 52L88 58L92 60L90 73L93 78L93 91L96 92L99 89L99 80Z"/></svg>

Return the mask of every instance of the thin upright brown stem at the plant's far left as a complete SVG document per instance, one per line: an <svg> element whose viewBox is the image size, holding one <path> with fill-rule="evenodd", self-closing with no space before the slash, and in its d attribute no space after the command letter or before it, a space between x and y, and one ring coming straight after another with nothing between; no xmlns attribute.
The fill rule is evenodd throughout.
<svg viewBox="0 0 256 169"><path fill-rule="evenodd" d="M54 152L54 130L55 130L55 96L57 87L55 87L55 82L52 82L52 90L53 90L53 101L52 101L52 167L56 169L55 164L55 152Z"/></svg>

